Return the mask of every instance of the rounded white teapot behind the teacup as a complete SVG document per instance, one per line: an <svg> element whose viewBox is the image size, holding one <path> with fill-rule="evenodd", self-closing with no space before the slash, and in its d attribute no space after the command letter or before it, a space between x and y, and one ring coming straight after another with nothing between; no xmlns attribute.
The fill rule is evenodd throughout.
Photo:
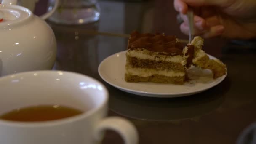
<svg viewBox="0 0 256 144"><path fill-rule="evenodd" d="M44 21L56 10L40 17L16 5L17 0L0 4L0 77L17 72L52 69L56 60L56 38Z"/></svg>

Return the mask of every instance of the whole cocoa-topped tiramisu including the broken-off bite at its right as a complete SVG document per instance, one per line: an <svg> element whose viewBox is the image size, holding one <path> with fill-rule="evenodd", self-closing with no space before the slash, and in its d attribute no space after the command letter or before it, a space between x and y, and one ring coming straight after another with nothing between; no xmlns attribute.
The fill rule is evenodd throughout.
<svg viewBox="0 0 256 144"><path fill-rule="evenodd" d="M195 37L183 46L175 36L131 33L126 52L125 81L184 84L192 64L211 69L214 78L226 74L226 66L210 60L202 50L203 39Z"/></svg>

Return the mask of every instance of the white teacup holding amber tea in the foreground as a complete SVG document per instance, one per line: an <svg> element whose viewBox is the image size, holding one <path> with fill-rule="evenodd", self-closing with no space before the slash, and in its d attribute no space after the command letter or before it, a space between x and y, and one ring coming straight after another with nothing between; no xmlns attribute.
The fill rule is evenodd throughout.
<svg viewBox="0 0 256 144"><path fill-rule="evenodd" d="M137 144L134 125L107 115L108 91L97 80L73 72L35 71L0 78L0 115L13 109L59 104L86 111L45 122L0 120L0 144L94 144L104 130L119 133L125 144Z"/></svg>

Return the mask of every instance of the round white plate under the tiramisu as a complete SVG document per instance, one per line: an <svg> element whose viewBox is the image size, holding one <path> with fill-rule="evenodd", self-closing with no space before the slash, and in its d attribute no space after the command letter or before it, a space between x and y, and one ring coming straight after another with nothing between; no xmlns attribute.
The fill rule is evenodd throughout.
<svg viewBox="0 0 256 144"><path fill-rule="evenodd" d="M127 83L125 75L126 51L115 53L99 65L98 72L101 78L110 85L136 95L150 97L180 97L200 93L221 83L227 75L215 80L209 70L200 70L195 67L189 69L188 75L191 81L184 85L159 84L159 83ZM210 59L216 59L210 56Z"/></svg>

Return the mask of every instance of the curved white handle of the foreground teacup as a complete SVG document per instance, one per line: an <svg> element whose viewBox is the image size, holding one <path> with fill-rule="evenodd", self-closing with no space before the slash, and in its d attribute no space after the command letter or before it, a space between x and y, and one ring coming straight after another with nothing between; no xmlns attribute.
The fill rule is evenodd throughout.
<svg viewBox="0 0 256 144"><path fill-rule="evenodd" d="M139 134L135 126L121 117L107 117L96 125L94 137L96 141L101 141L105 130L113 130L121 135L125 144L138 144Z"/></svg>

